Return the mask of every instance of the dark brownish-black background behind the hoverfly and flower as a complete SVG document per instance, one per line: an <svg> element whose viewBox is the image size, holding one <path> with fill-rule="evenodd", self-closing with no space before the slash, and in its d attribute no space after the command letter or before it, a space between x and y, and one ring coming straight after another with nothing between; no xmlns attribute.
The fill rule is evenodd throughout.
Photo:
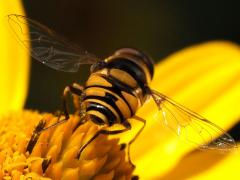
<svg viewBox="0 0 240 180"><path fill-rule="evenodd" d="M240 1L25 0L27 16L106 57L136 47L159 61L183 47L208 40L240 43ZM55 111L64 87L84 83L88 67L76 74L32 61L26 108Z"/></svg>

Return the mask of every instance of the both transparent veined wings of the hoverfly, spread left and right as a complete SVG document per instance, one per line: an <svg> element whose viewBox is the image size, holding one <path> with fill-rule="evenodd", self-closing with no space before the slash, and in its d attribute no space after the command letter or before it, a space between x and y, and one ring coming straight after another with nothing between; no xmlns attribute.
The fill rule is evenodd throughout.
<svg viewBox="0 0 240 180"><path fill-rule="evenodd" d="M32 57L53 69L77 72L82 64L100 61L96 56L27 17L11 14L8 15L8 23L23 46L27 48L31 44ZM29 27L29 31L23 29L25 25ZM200 149L229 151L237 147L234 139L214 123L165 95L150 91L162 116L161 122L183 140Z"/></svg>

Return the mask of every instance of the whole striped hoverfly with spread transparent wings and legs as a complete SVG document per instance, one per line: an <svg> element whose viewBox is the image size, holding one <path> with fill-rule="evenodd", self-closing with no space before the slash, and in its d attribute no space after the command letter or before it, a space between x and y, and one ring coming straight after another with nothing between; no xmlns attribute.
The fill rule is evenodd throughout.
<svg viewBox="0 0 240 180"><path fill-rule="evenodd" d="M131 124L128 119L136 117L136 111L149 98L155 101L162 122L187 142L197 145L200 149L228 151L236 148L234 139L220 127L149 87L154 74L154 64L144 53L132 48L123 48L100 60L27 17L11 14L8 15L8 21L21 44L28 47L30 43L32 57L41 63L65 72L77 72L82 64L91 65L90 76L85 86L75 83L64 90L64 119L43 129L54 127L69 119L66 100L68 93L79 97L82 123L91 120L106 128L99 130L80 148L77 158L100 134L112 135L130 130ZM25 24L29 26L29 32L23 31L22 26ZM143 126L128 143L130 163L130 145L146 124L146 120L140 117L135 119L142 122ZM113 131L107 129L115 124L124 128ZM194 132L194 137L188 136L189 132Z"/></svg>

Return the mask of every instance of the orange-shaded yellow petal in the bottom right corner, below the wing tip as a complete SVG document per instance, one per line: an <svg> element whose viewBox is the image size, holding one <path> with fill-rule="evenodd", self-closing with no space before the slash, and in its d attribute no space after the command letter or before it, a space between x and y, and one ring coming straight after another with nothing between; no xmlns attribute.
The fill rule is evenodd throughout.
<svg viewBox="0 0 240 180"><path fill-rule="evenodd" d="M196 151L184 157L161 179L239 179L239 153Z"/></svg>

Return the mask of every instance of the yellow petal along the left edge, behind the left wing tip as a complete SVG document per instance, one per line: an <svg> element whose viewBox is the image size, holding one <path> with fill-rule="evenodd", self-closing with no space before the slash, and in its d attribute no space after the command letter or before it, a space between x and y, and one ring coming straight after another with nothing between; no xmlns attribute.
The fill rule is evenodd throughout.
<svg viewBox="0 0 240 180"><path fill-rule="evenodd" d="M20 0L0 3L0 114L23 107L29 71L29 54L15 39L7 25L8 14L24 15ZM22 27L27 29L27 27Z"/></svg>

